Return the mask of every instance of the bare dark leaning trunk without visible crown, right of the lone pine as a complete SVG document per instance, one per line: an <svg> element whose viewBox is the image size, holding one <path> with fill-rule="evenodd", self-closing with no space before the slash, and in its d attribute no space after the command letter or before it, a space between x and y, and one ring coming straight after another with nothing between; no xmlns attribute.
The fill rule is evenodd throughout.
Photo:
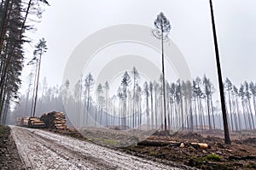
<svg viewBox="0 0 256 170"><path fill-rule="evenodd" d="M225 139L225 144L231 144L227 112L225 107L224 86L223 86L222 73L221 73L221 67L219 62L218 41L217 41L217 33L216 33L215 20L214 20L214 14L213 14L212 0L210 0L210 8L211 8L211 16L212 16L212 31L213 31L213 38L214 38L214 44L215 44L216 64L218 69L218 86L219 86L221 108L222 108L222 115L223 115L223 122L224 122L224 139Z"/></svg>

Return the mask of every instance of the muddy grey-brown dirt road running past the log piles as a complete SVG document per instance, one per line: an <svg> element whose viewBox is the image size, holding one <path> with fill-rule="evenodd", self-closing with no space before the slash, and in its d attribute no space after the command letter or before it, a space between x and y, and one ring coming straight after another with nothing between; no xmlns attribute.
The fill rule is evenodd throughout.
<svg viewBox="0 0 256 170"><path fill-rule="evenodd" d="M11 127L27 169L177 169L39 129Z"/></svg>

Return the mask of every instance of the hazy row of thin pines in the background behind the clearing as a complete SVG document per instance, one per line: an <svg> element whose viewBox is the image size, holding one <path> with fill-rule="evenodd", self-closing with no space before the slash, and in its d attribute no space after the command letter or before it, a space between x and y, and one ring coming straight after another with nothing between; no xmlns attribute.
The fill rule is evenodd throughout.
<svg viewBox="0 0 256 170"><path fill-rule="evenodd" d="M44 79L40 85L36 116L47 111L68 110L67 116L76 127L164 130L166 117L168 130L223 129L222 113L214 97L216 90L208 77L195 77L191 82L166 81L166 116L161 79L162 76L159 81L145 81L135 67L125 71L119 87L110 87L108 82L96 84L90 73L81 77L73 89L70 89L68 80L59 88L48 88ZM116 94L110 94L110 88L117 88ZM28 88L27 92L31 89ZM230 130L253 130L256 83L244 82L236 88L227 78L224 89ZM30 116L31 102L32 95L22 95L20 107L15 112Z"/></svg>

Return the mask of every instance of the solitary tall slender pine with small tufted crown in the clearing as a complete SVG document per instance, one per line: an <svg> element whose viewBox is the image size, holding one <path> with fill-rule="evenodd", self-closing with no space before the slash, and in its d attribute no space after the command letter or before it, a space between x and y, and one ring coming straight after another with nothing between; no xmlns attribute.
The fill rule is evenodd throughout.
<svg viewBox="0 0 256 170"><path fill-rule="evenodd" d="M165 131L167 131L166 122L166 78L165 78L165 54L164 54L164 42L168 39L169 32L171 31L170 21L166 18L165 14L162 12L157 15L156 20L154 20L154 37L160 39L162 48L162 86L163 86L163 98L164 98L164 123Z"/></svg>

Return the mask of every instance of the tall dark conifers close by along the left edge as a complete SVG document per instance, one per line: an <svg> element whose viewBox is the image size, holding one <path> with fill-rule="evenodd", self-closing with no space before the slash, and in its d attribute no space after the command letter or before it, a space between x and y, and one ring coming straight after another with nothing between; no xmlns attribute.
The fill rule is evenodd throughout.
<svg viewBox="0 0 256 170"><path fill-rule="evenodd" d="M0 119L5 122L9 104L18 99L20 74L24 62L24 36L29 15L42 14L39 2L46 0L2 0L0 3Z"/></svg>

